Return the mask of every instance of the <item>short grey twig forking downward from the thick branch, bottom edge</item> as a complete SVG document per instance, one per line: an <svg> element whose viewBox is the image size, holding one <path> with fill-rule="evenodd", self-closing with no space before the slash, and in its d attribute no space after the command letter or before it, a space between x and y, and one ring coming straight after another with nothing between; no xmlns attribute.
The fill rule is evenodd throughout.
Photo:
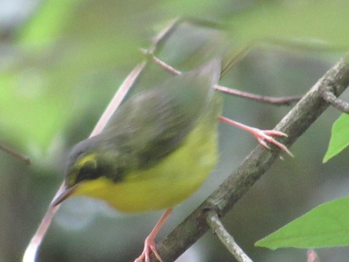
<svg viewBox="0 0 349 262"><path fill-rule="evenodd" d="M235 242L233 237L228 233L224 228L221 220L218 218L218 215L213 210L210 210L207 213L207 223L221 240L223 245L229 250L229 252L236 258L239 262L253 262L250 257L244 252L244 250L239 247Z"/></svg>

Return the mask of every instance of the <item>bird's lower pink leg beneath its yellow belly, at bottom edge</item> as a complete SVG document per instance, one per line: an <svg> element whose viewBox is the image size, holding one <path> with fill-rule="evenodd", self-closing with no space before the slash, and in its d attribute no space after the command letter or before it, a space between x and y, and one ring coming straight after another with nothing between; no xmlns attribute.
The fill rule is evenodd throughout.
<svg viewBox="0 0 349 262"><path fill-rule="evenodd" d="M138 258L136 258L136 260L134 262L141 262L143 259L145 262L150 262L150 253L151 252L154 253L154 255L156 256L156 258L159 261L162 261L159 253L157 253L154 239L155 239L155 236L157 235L157 233L159 232L160 228L165 223L166 218L168 218L168 216L170 216L171 212L172 212L172 209L166 210L166 212L159 219L159 221L157 222L154 229L147 236L146 240L144 240L144 249L143 249L142 254Z"/></svg>

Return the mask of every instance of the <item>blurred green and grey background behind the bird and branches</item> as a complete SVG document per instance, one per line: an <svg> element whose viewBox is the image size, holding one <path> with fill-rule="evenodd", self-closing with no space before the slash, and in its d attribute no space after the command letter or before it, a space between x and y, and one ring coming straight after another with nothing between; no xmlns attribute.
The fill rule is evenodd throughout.
<svg viewBox="0 0 349 262"><path fill-rule="evenodd" d="M217 54L250 52L220 81L247 92L304 94L348 49L346 0L0 0L0 261L20 261L63 179L69 148L89 136L122 80L142 60L140 48L178 16L185 23L158 52L190 70ZM147 68L135 90L169 75ZM348 92L342 95L349 100ZM272 129L290 107L224 96L224 116ZM223 223L254 261L306 261L306 250L271 251L255 241L326 201L348 195L348 151L322 164L332 123L329 108L276 161ZM161 239L203 201L257 145L248 133L220 124L220 163L206 183L178 205ZM65 201L42 243L38 261L133 261L163 211L123 214L87 198ZM317 250L321 261L347 261L347 247ZM178 261L235 261L207 233Z"/></svg>

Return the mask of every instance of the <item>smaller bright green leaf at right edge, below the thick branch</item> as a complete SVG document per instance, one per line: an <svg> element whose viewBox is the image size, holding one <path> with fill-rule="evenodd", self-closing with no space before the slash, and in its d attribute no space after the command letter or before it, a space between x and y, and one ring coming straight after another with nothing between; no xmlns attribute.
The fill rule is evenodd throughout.
<svg viewBox="0 0 349 262"><path fill-rule="evenodd" d="M327 152L322 160L326 163L329 159L339 154L349 145L349 115L342 114L332 126L331 139Z"/></svg>

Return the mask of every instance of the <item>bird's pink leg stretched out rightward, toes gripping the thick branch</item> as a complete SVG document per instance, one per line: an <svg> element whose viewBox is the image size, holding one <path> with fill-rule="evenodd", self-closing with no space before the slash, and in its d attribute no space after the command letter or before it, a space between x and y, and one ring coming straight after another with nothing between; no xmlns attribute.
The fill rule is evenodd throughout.
<svg viewBox="0 0 349 262"><path fill-rule="evenodd" d="M224 116L218 117L218 120L220 120L224 123L235 125L238 128L241 128L241 129L246 130L247 132L250 132L251 134L253 134L253 136L258 140L258 142L262 146L264 146L268 149L270 149L270 147L267 145L267 142L272 143L272 144L280 147L283 151L287 152L291 157L293 157L293 154L288 150L288 148L284 144L280 143L279 141L277 141L273 137L271 137L271 136L287 137L287 134L285 134L283 132L276 131L276 130L260 130L258 128L252 128L251 126L241 124L239 122L233 121L233 120L231 120L227 117L224 117Z"/></svg>

